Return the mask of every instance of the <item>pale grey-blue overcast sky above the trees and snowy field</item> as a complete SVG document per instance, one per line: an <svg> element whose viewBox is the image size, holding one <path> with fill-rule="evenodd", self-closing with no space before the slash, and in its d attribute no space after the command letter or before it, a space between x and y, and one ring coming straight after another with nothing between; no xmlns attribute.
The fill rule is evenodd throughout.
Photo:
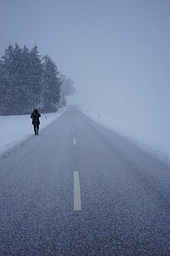
<svg viewBox="0 0 170 256"><path fill-rule="evenodd" d="M72 102L170 106L169 0L0 0L0 38L1 56L9 43L50 55Z"/></svg>

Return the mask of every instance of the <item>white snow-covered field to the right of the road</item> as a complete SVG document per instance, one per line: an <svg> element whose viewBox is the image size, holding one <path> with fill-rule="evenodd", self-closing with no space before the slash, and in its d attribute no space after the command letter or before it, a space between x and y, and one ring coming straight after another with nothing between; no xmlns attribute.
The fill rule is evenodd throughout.
<svg viewBox="0 0 170 256"><path fill-rule="evenodd" d="M170 113L116 113L95 105L80 108L91 119L170 164Z"/></svg>

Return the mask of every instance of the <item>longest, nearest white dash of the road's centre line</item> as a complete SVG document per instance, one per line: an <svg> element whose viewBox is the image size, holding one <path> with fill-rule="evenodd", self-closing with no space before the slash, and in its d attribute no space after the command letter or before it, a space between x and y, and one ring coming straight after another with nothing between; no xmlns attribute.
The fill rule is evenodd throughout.
<svg viewBox="0 0 170 256"><path fill-rule="evenodd" d="M74 172L74 210L75 211L82 210L79 172L77 172L77 171Z"/></svg>

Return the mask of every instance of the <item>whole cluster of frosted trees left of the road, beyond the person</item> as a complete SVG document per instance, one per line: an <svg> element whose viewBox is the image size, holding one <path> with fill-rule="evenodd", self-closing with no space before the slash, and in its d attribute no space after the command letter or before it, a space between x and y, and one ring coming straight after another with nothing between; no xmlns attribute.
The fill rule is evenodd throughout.
<svg viewBox="0 0 170 256"><path fill-rule="evenodd" d="M73 84L49 55L39 55L37 45L9 44L0 60L0 114L26 114L34 108L55 112L66 105L65 96L75 93Z"/></svg>

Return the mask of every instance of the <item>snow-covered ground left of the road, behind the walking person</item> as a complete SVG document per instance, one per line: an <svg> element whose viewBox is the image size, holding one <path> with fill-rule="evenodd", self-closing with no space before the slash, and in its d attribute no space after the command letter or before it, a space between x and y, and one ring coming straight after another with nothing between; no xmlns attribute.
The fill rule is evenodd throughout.
<svg viewBox="0 0 170 256"><path fill-rule="evenodd" d="M62 108L57 113L42 113L40 132L55 119L59 118L64 111L65 108ZM0 154L33 135L30 116L31 114L0 116Z"/></svg>

